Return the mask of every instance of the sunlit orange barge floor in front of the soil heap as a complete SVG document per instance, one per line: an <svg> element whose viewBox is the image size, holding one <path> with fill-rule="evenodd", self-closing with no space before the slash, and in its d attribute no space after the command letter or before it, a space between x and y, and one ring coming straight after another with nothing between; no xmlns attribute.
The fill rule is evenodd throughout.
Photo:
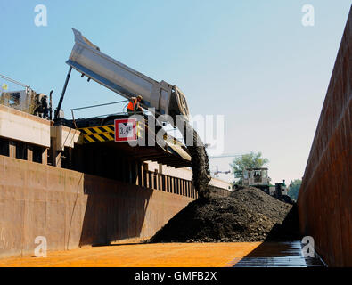
<svg viewBox="0 0 352 285"><path fill-rule="evenodd" d="M221 267L234 265L260 242L114 244L0 259L0 267Z"/></svg>

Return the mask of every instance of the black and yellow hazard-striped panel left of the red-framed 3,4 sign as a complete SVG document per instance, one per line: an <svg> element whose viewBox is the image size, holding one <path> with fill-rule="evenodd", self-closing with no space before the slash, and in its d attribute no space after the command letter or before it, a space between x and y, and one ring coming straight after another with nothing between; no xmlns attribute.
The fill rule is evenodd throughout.
<svg viewBox="0 0 352 285"><path fill-rule="evenodd" d="M89 126L78 128L83 134L83 142L111 142L115 141L115 126Z"/></svg>

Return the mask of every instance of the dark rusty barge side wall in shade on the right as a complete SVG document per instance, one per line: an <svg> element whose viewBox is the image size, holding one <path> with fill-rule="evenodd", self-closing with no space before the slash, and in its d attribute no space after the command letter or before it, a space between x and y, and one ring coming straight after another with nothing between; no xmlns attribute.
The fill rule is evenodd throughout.
<svg viewBox="0 0 352 285"><path fill-rule="evenodd" d="M352 266L352 8L299 191L300 229L328 265Z"/></svg>

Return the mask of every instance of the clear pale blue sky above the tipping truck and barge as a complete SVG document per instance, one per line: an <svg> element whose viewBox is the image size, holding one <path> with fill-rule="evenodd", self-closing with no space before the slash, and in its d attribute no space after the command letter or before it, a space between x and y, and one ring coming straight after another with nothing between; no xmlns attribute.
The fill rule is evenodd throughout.
<svg viewBox="0 0 352 285"><path fill-rule="evenodd" d="M47 27L34 24L37 4L47 7ZM315 8L314 27L301 24L304 4ZM304 173L350 6L350 0L2 0L0 73L37 92L53 89L56 105L73 46L70 28L77 28L103 53L179 86L192 114L225 115L225 153L262 151L273 182L289 181ZM70 118L71 108L119 99L72 72L62 108ZM110 111L116 110L78 117ZM210 162L212 170L228 170L231 158Z"/></svg>

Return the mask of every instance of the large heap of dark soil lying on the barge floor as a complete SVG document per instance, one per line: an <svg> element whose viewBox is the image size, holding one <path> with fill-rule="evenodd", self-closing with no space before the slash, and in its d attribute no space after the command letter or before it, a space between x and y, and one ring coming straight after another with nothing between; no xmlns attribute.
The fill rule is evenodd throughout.
<svg viewBox="0 0 352 285"><path fill-rule="evenodd" d="M149 241L297 240L296 217L290 212L291 208L256 188L233 191L229 197L211 194L208 198L192 201ZM282 235L282 222L289 212L291 224L286 223Z"/></svg>

